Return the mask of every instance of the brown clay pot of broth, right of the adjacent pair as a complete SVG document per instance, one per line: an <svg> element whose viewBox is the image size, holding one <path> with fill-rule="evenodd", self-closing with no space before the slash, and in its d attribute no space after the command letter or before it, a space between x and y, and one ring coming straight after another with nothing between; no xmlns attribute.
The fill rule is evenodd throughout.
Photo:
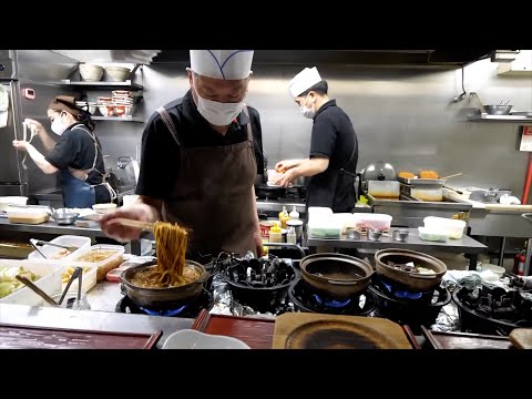
<svg viewBox="0 0 532 399"><path fill-rule="evenodd" d="M429 268L434 274L420 274L396 269L388 263L403 265L413 262L416 266ZM409 249L381 249L375 254L375 266L378 275L402 284L406 287L428 291L440 285L442 276L447 272L447 265L433 256Z"/></svg>

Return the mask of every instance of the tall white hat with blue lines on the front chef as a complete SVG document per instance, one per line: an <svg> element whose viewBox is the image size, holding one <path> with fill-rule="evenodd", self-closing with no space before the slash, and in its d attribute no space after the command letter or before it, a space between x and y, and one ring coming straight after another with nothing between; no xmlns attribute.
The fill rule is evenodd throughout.
<svg viewBox="0 0 532 399"><path fill-rule="evenodd" d="M191 50L191 69L214 79L246 79L252 61L253 50Z"/></svg>

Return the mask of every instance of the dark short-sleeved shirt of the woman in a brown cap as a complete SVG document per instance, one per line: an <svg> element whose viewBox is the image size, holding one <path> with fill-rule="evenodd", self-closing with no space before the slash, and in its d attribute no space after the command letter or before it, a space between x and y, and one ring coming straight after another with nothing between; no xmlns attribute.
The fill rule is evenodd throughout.
<svg viewBox="0 0 532 399"><path fill-rule="evenodd" d="M83 129L72 129L75 125L81 125ZM74 123L70 125L63 134L59 137L52 152L44 156L44 160L50 162L59 170L65 171L69 166L80 171L86 171L92 167L94 162L94 141L85 131L90 131L82 123ZM95 136L94 132L92 134ZM100 141L96 137L100 145ZM101 151L98 152L95 168L100 172L93 171L89 174L86 183L100 184L102 183L102 174L105 173L103 163L103 155ZM110 196L105 187L95 187L96 203L109 202Z"/></svg>

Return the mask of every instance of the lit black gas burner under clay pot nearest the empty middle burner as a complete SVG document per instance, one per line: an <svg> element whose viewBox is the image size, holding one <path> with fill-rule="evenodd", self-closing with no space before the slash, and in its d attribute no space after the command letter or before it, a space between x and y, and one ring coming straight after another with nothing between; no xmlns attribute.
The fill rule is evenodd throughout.
<svg viewBox="0 0 532 399"><path fill-rule="evenodd" d="M298 310L331 315L368 316L375 309L371 295L360 294L349 298L332 298L317 293L303 278L288 290L288 297Z"/></svg>

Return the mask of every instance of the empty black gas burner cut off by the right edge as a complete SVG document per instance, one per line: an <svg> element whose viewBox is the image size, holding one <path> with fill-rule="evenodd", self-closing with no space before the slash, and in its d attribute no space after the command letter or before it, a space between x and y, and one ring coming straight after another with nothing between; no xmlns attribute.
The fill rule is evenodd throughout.
<svg viewBox="0 0 532 399"><path fill-rule="evenodd" d="M462 287L453 293L462 331L509 335L516 327L532 327L532 300L523 290L501 287Z"/></svg>

